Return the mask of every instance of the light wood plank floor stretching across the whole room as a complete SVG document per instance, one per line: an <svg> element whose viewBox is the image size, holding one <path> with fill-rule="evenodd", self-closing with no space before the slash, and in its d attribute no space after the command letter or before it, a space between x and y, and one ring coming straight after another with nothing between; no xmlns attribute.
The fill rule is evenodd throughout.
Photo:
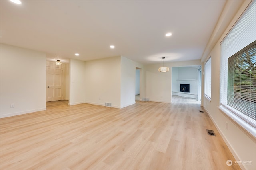
<svg viewBox="0 0 256 170"><path fill-rule="evenodd" d="M196 99L116 109L48 102L1 121L1 170L223 170L235 160ZM206 129L214 130L216 137Z"/></svg>

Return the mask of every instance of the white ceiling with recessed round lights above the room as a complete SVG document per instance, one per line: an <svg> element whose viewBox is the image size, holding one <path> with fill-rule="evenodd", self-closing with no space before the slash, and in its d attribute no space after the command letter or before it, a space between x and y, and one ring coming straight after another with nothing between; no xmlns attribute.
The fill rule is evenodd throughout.
<svg viewBox="0 0 256 170"><path fill-rule="evenodd" d="M162 63L162 57L165 62L200 59L225 3L1 0L1 43L64 62L120 55L142 64Z"/></svg>

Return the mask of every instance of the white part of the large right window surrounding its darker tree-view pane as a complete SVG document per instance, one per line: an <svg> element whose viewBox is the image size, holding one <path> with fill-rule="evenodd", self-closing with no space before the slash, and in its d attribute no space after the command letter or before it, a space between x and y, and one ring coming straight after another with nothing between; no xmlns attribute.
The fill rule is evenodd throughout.
<svg viewBox="0 0 256 170"><path fill-rule="evenodd" d="M228 58L256 40L256 1L252 1L221 42L220 110L256 137L256 121L227 105Z"/></svg>

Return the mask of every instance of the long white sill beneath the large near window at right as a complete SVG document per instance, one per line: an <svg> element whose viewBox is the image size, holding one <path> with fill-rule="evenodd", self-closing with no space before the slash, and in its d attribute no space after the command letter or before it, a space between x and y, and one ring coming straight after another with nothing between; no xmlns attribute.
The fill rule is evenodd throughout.
<svg viewBox="0 0 256 170"><path fill-rule="evenodd" d="M236 123L239 127L242 128L243 131L246 132L254 141L256 141L256 131L255 128L246 123L244 120L242 120L240 117L236 116L234 113L229 111L223 106L218 107L222 113L227 115L234 123Z"/></svg>

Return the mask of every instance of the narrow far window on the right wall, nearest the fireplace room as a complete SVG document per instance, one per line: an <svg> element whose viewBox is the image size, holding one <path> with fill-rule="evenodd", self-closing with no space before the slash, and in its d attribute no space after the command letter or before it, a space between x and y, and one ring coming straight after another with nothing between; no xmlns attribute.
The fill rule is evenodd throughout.
<svg viewBox="0 0 256 170"><path fill-rule="evenodd" d="M204 95L211 100L212 91L212 58L210 57L204 65Z"/></svg>

